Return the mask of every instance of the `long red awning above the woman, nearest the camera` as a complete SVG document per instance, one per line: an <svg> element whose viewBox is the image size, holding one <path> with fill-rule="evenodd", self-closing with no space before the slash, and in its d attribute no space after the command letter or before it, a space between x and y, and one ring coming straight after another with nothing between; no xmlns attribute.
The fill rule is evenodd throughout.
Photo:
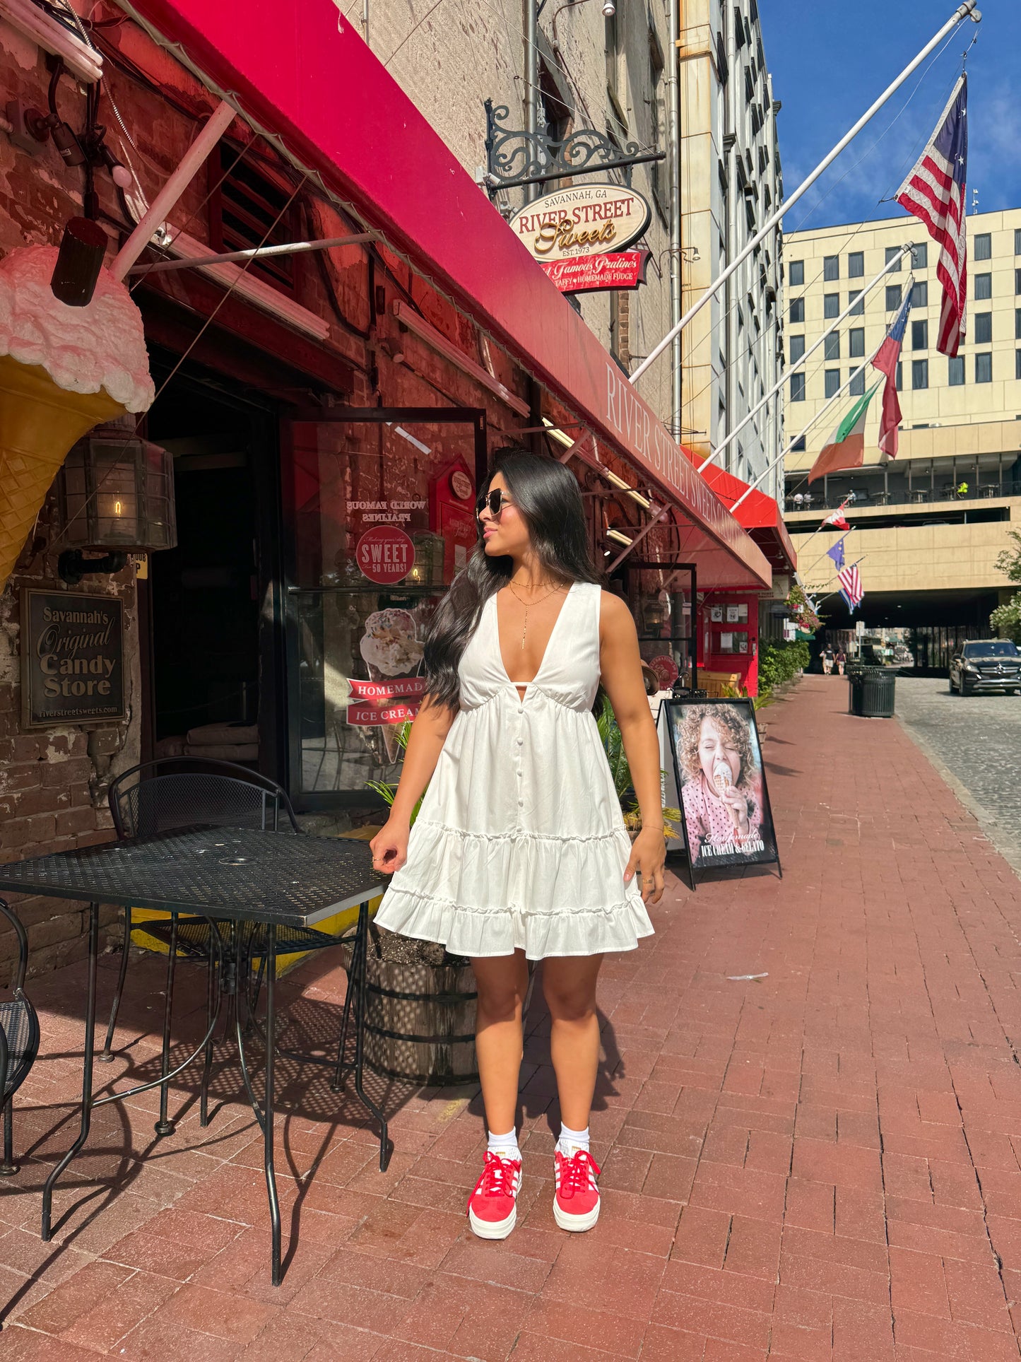
<svg viewBox="0 0 1021 1362"><path fill-rule="evenodd" d="M758 546L335 4L118 3L638 467L698 531L700 576L769 586Z"/></svg>

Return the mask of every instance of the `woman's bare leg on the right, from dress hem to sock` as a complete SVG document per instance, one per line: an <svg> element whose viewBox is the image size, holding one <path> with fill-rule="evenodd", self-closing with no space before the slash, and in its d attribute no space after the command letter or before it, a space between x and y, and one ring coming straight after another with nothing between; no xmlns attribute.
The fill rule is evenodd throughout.
<svg viewBox="0 0 1021 1362"><path fill-rule="evenodd" d="M550 1056L557 1075L560 1117L572 1130L588 1128L599 1069L599 1017L595 1005L602 955L549 956L542 987L553 1019Z"/></svg>

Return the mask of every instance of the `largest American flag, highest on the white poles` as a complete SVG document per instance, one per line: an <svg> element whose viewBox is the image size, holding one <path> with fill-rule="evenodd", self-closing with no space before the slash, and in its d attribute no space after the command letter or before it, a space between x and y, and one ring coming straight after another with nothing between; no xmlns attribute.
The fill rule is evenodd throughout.
<svg viewBox="0 0 1021 1362"><path fill-rule="evenodd" d="M965 191L968 173L968 78L961 76L928 146L897 191L897 203L924 222L939 242L937 276L943 286L941 354L952 358L964 339L968 294Z"/></svg>

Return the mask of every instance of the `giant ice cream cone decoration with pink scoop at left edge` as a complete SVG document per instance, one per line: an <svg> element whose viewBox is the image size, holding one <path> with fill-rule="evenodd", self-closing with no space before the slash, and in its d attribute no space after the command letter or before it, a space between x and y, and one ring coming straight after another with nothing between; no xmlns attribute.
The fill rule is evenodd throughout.
<svg viewBox="0 0 1021 1362"><path fill-rule="evenodd" d="M83 308L50 289L56 247L0 260L0 590L71 445L144 411L152 380L142 313L106 271Z"/></svg>

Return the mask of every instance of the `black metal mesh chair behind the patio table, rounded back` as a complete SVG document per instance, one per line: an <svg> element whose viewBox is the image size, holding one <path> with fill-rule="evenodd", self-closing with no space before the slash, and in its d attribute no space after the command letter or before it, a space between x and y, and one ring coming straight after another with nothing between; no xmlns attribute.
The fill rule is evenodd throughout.
<svg viewBox="0 0 1021 1362"><path fill-rule="evenodd" d="M301 836L301 828L287 793L268 776L233 761L215 761L197 757L161 757L132 767L110 785L110 812L118 838L148 839L161 832L172 832L191 827L260 828L282 835ZM211 940L211 929L204 918L178 915L174 922L146 921L144 930L176 951L178 956L204 960L208 967L207 1008L212 1017L215 990L218 987L218 952ZM124 981L128 972L131 947L132 911L124 910L124 953L117 975L117 989L110 1008L110 1022L106 1028L106 1043L97 1060L109 1062L113 1058L110 1046L117 1026ZM245 990L249 1020L255 1015L265 970L264 928L252 925L244 938L225 960L229 978L221 978L226 985L229 1030L237 1013L238 990ZM312 928L279 928L276 933L276 955L295 955L306 951L321 951L347 940L349 933L331 936ZM252 982L252 962L259 960L259 970ZM212 1039L206 1049L203 1068L200 1122L207 1124L208 1080L212 1066Z"/></svg>

